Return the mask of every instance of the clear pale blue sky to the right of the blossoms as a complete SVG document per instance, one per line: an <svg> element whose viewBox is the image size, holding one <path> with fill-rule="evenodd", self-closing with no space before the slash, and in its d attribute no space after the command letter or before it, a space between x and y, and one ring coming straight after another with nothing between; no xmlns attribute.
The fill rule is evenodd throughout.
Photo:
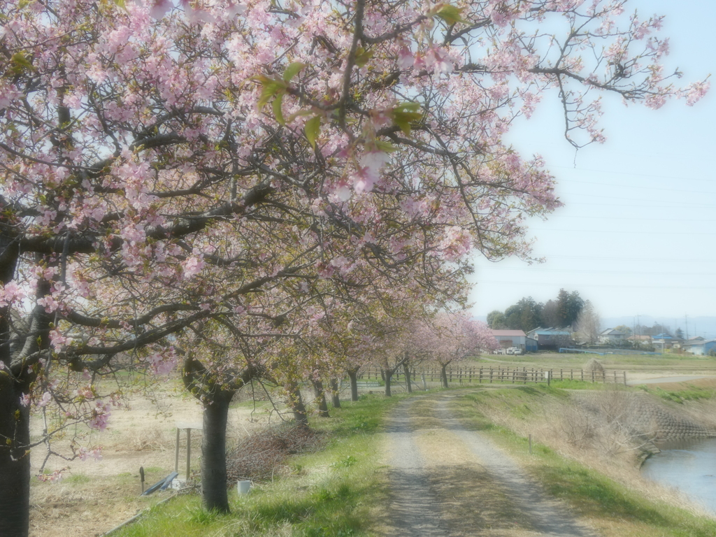
<svg viewBox="0 0 716 537"><path fill-rule="evenodd" d="M716 77L716 1L636 0L642 16L664 14L667 67L684 83ZM667 69L668 70L668 69ZM504 310L522 296L579 291L601 316L716 316L716 79L704 100L661 110L605 97L608 140L576 154L562 136L556 95L516 126L510 141L540 153L565 207L531 227L536 256L476 260L473 313ZM548 104L549 103L549 104Z"/></svg>

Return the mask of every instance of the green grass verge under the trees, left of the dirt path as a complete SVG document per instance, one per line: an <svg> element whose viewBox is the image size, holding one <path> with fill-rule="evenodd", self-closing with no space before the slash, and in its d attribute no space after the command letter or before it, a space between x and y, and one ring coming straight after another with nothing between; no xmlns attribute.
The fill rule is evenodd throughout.
<svg viewBox="0 0 716 537"><path fill-rule="evenodd" d="M332 409L311 426L330 435L326 449L291 458L291 475L258 483L248 495L230 493L231 514L205 511L198 496L153 508L117 537L366 536L370 511L384 503L378 433L383 416L405 396L364 395Z"/></svg>

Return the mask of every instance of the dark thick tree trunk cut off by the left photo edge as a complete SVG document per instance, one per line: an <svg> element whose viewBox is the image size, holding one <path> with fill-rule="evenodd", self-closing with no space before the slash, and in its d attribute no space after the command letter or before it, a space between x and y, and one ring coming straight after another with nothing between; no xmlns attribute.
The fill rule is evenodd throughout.
<svg viewBox="0 0 716 537"><path fill-rule="evenodd" d="M20 405L20 396L28 393L29 387L15 382L6 373L0 372L0 533L3 537L27 537L30 452L26 446L30 443L30 409L29 405Z"/></svg>

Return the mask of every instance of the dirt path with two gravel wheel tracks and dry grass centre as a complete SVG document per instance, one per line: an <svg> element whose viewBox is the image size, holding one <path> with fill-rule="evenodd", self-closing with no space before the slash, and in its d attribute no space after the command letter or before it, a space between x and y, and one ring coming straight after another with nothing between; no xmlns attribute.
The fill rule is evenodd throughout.
<svg viewBox="0 0 716 537"><path fill-rule="evenodd" d="M388 533L596 537L488 437L463 425L450 412L452 397L413 398L395 411L387 429Z"/></svg>

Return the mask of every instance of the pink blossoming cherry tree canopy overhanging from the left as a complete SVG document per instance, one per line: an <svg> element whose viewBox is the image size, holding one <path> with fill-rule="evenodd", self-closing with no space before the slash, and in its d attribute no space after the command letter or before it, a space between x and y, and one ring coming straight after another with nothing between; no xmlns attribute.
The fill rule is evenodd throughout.
<svg viewBox="0 0 716 537"><path fill-rule="evenodd" d="M551 92L579 146L600 95L707 89L672 84L662 20L624 4L1 0L4 535L28 533L30 448L105 427L97 379L181 362L221 429L252 377L292 392L463 303L471 252L528 258L524 218L559 202L503 143L516 117Z"/></svg>

